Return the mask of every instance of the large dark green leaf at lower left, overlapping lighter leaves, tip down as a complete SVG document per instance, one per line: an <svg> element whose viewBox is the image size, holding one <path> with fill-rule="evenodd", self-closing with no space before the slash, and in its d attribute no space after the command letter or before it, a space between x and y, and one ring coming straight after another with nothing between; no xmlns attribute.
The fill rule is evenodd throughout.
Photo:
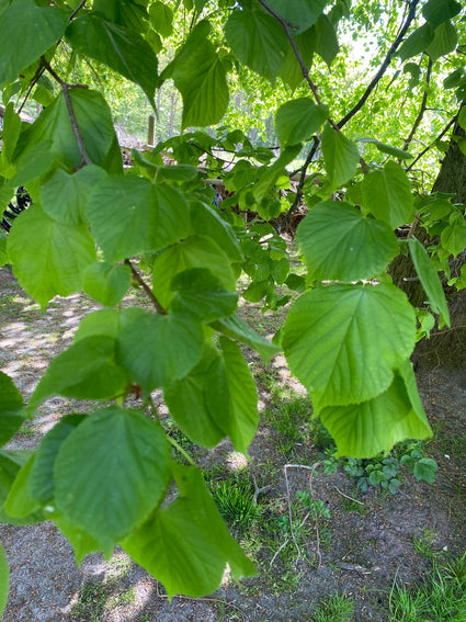
<svg viewBox="0 0 466 622"><path fill-rule="evenodd" d="M55 462L58 511L110 554L161 502L170 479L161 428L138 410L98 410L62 442Z"/></svg>

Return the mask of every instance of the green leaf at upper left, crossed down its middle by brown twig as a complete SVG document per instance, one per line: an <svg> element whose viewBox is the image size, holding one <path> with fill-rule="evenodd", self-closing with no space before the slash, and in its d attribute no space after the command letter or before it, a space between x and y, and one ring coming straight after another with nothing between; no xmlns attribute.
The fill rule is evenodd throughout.
<svg viewBox="0 0 466 622"><path fill-rule="evenodd" d="M68 93L87 155L94 165L109 168L111 165L109 156L112 154L116 136L112 114L105 100L100 93L78 87L70 88ZM39 143L47 140L52 140L50 156L55 157L62 168L72 172L81 166L82 155L78 148L62 93L21 134L15 152L18 166L21 166L27 155L34 154ZM42 170L38 174L43 172L45 171Z"/></svg>

